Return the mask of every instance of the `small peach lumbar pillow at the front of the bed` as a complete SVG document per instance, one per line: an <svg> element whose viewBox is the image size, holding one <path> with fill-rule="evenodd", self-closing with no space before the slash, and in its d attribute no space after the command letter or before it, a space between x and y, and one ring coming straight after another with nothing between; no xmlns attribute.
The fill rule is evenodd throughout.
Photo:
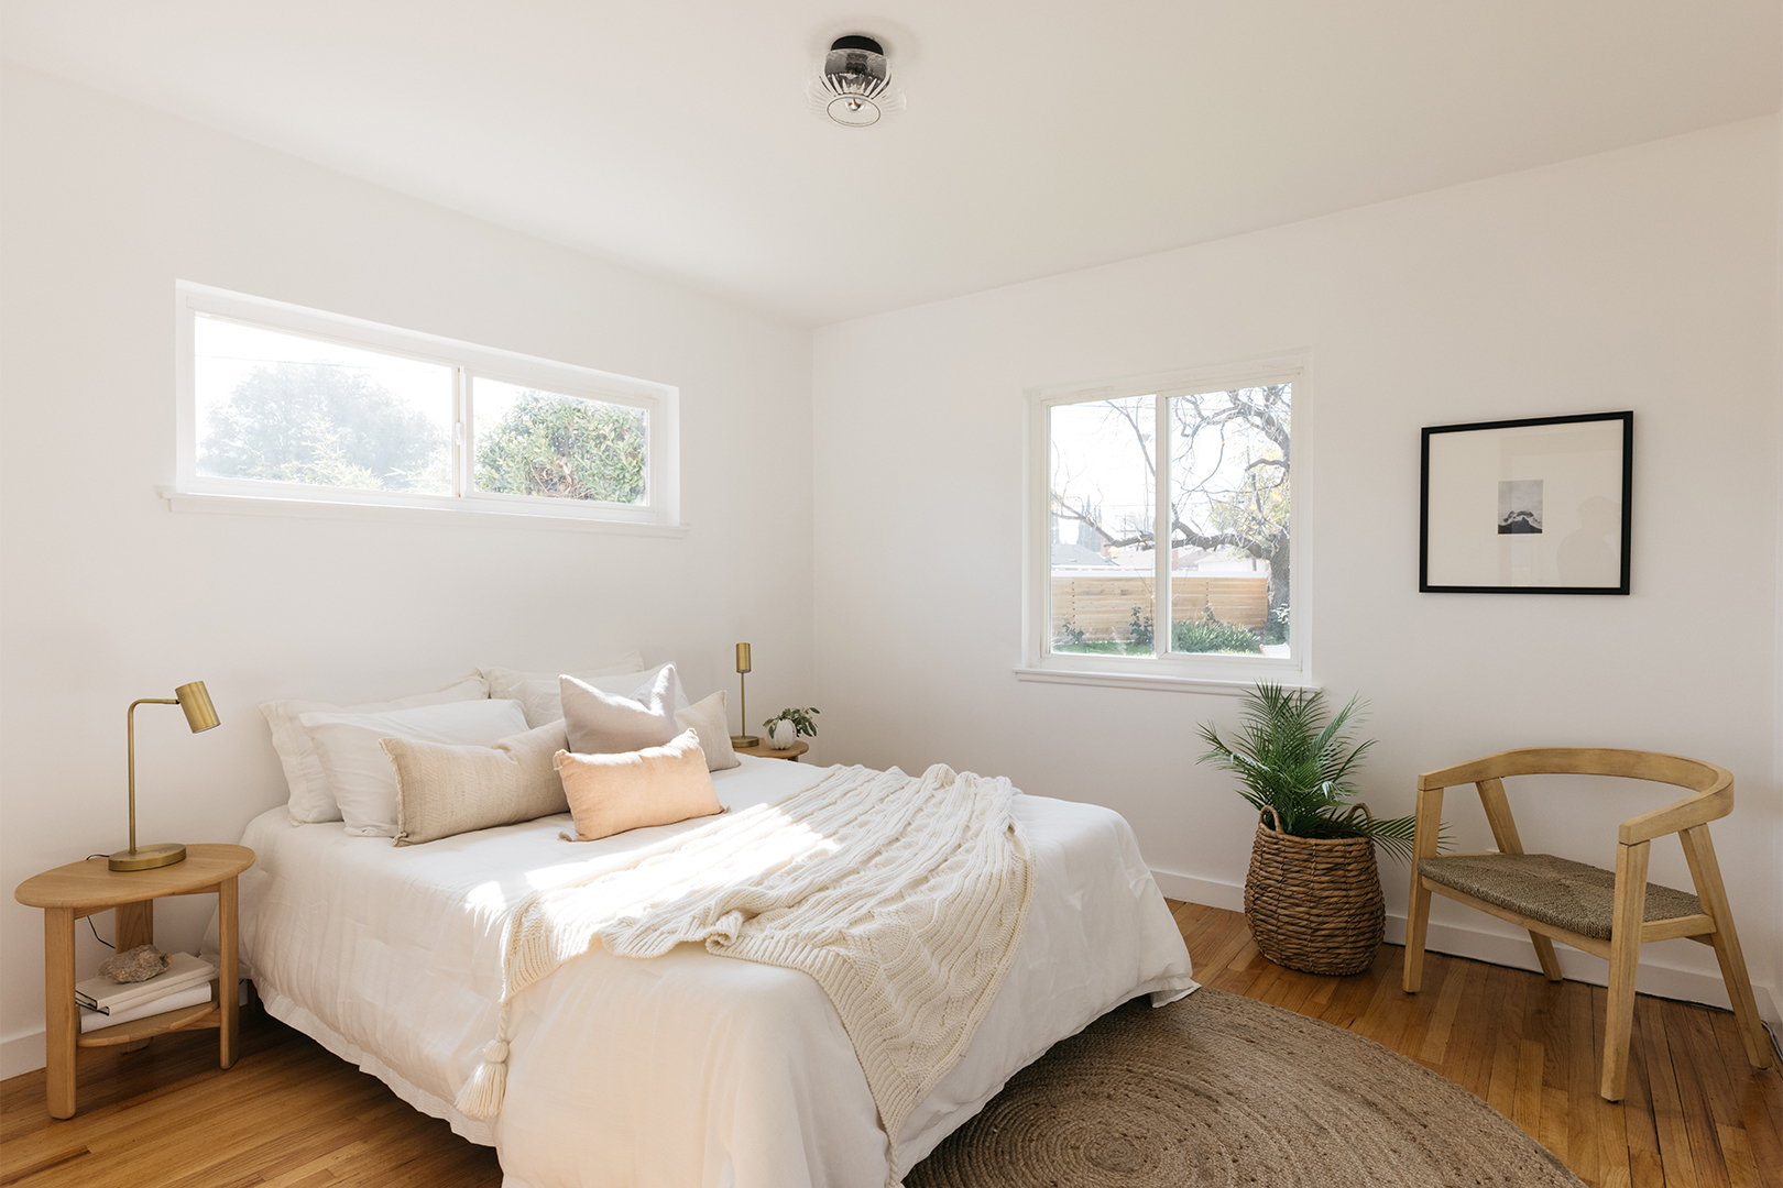
<svg viewBox="0 0 1783 1188"><path fill-rule="evenodd" d="M724 812L694 730L683 730L667 746L624 755L558 752L556 766L576 818L576 841Z"/></svg>

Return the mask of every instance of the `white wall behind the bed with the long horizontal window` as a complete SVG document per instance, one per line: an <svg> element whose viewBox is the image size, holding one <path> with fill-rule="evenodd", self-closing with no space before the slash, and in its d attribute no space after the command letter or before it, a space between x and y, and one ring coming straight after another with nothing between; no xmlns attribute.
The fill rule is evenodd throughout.
<svg viewBox="0 0 1783 1188"><path fill-rule="evenodd" d="M137 714L143 841L237 841L283 800L275 696L638 647L735 704L751 639L752 716L811 700L808 330L43 75L7 69L0 109L9 891L125 844L125 705L193 679L223 728ZM692 531L171 513L175 278L679 385ZM160 939L194 946L210 903L164 907ZM12 1076L43 1060L43 942L11 894L0 955Z"/></svg>

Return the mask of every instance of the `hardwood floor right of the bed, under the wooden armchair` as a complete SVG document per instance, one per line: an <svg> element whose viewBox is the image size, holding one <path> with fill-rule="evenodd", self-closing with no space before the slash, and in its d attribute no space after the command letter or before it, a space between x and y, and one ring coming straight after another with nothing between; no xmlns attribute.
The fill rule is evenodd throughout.
<svg viewBox="0 0 1783 1188"><path fill-rule="evenodd" d="M1171 903L1205 985L1366 1035L1441 1072L1603 1188L1783 1184L1783 1076L1746 1063L1733 1015L1640 996L1628 1097L1598 1097L1603 987L1432 953L1400 990L1405 949L1350 978L1264 960L1245 917Z"/></svg>

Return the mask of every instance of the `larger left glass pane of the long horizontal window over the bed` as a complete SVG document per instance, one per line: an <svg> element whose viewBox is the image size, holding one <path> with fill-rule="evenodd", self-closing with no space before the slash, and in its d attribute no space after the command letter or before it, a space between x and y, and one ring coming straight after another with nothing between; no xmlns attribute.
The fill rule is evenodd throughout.
<svg viewBox="0 0 1783 1188"><path fill-rule="evenodd" d="M451 493L453 369L198 315L198 474Z"/></svg>

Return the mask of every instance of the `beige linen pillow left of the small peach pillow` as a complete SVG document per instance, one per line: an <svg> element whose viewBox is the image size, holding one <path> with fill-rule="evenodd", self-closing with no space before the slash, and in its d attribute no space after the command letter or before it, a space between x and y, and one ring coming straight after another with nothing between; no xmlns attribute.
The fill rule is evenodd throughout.
<svg viewBox="0 0 1783 1188"><path fill-rule="evenodd" d="M396 768L396 844L567 812L555 761L563 745L562 721L490 746L378 739Z"/></svg>

